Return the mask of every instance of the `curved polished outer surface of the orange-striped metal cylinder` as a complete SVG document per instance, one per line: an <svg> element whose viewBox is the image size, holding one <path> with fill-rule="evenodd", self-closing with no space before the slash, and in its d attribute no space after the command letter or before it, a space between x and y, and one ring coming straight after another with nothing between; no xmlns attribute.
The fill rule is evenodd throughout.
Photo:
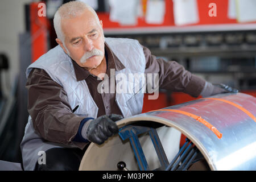
<svg viewBox="0 0 256 182"><path fill-rule="evenodd" d="M209 127L189 115L170 110L185 111L203 118L220 131L222 137L218 138ZM212 170L256 170L255 116L256 98L236 93L185 102L125 120L147 118L148 121L175 127L199 148Z"/></svg>

